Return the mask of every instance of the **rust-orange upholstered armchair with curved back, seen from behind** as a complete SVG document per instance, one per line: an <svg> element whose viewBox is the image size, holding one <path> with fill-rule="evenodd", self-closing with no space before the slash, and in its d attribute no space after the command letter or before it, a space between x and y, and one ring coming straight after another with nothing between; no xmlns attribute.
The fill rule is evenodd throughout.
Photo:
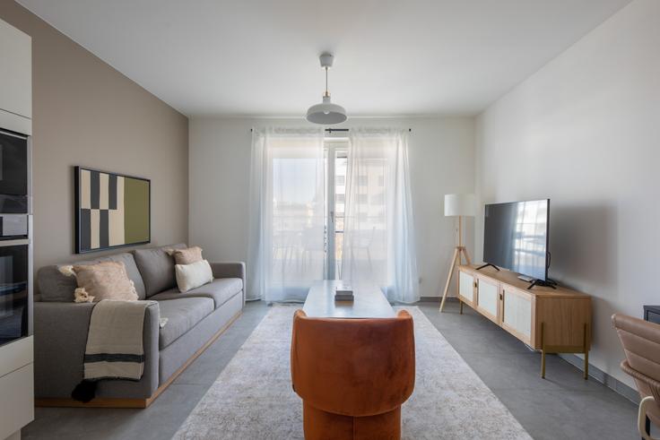
<svg viewBox="0 0 660 440"><path fill-rule="evenodd" d="M302 398L305 438L397 439L412 393L412 316L388 319L293 316L291 379Z"/></svg>

